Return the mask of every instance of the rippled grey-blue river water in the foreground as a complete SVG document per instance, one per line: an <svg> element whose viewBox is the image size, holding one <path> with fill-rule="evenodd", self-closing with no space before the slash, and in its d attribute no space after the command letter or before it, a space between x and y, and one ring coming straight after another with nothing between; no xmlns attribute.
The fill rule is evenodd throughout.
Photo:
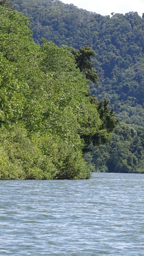
<svg viewBox="0 0 144 256"><path fill-rule="evenodd" d="M144 175L0 181L0 256L143 256Z"/></svg>

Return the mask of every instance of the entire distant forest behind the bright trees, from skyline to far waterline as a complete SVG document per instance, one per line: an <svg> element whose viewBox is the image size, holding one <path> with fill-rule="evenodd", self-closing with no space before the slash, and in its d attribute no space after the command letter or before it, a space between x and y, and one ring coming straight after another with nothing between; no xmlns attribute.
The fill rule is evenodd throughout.
<svg viewBox="0 0 144 256"><path fill-rule="evenodd" d="M99 79L90 83L91 93L110 100L120 124L112 142L99 147L89 143L83 150L93 170L144 172L144 18L137 12L102 16L57 0L12 2L30 18L36 42L42 44L45 37L58 46L88 45L96 53ZM106 102L100 105L108 111Z"/></svg>

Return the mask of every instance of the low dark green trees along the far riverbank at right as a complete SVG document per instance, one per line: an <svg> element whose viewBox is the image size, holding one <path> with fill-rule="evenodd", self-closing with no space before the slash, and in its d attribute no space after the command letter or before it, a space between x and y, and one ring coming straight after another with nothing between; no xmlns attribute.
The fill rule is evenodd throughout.
<svg viewBox="0 0 144 256"><path fill-rule="evenodd" d="M117 125L112 141L89 149L85 159L97 172L144 173L144 129L137 125Z"/></svg>

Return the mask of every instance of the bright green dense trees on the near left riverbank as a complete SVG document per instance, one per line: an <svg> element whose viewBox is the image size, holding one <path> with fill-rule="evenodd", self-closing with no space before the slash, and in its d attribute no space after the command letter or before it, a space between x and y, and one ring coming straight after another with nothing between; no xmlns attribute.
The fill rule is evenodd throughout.
<svg viewBox="0 0 144 256"><path fill-rule="evenodd" d="M29 19L0 1L0 179L88 179L83 151L116 125L107 101L90 96L95 53L84 47L80 71L66 46L31 36Z"/></svg>

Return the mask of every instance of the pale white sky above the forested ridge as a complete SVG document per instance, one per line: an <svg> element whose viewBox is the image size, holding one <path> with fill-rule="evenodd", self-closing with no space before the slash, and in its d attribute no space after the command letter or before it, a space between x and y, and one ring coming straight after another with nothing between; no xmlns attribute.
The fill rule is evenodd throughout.
<svg viewBox="0 0 144 256"><path fill-rule="evenodd" d="M110 15L111 12L123 13L144 12L144 0L61 0L65 4L74 4L79 8L101 15Z"/></svg>

